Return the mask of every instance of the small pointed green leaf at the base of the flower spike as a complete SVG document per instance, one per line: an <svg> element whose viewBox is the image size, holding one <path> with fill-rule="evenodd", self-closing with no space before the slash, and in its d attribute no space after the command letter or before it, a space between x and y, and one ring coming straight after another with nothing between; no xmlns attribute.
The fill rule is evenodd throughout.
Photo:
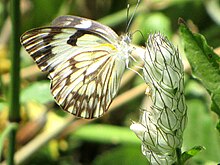
<svg viewBox="0 0 220 165"><path fill-rule="evenodd" d="M184 164L188 159L192 158L202 150L205 150L205 147L203 146L195 146L192 149L185 151L181 155L181 163Z"/></svg>

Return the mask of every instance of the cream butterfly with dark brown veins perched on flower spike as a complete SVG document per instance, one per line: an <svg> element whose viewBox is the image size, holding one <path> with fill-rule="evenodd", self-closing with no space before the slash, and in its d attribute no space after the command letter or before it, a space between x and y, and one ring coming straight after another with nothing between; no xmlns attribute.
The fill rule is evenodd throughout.
<svg viewBox="0 0 220 165"><path fill-rule="evenodd" d="M60 16L25 32L21 44L43 72L57 104L81 118L102 116L116 96L132 52L131 37L96 21Z"/></svg>

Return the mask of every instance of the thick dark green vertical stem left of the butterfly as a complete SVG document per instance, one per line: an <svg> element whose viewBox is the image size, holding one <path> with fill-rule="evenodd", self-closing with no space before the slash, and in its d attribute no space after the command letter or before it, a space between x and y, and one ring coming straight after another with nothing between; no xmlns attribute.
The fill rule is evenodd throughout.
<svg viewBox="0 0 220 165"><path fill-rule="evenodd" d="M9 122L18 123L20 120L20 104L19 104L19 87L20 87L20 44L19 44L19 27L20 27L20 1L11 0L11 71L10 71L10 91L9 91ZM12 130L9 134L8 148L8 165L14 164L15 153L15 135L16 130Z"/></svg>

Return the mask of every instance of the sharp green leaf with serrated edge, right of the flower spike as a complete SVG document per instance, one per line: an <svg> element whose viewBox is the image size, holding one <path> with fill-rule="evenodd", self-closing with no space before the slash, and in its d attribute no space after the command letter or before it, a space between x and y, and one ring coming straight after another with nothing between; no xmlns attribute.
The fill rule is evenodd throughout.
<svg viewBox="0 0 220 165"><path fill-rule="evenodd" d="M212 111L220 115L220 57L213 52L204 36L193 34L180 25L184 51L192 67L193 76L200 80L212 98Z"/></svg>

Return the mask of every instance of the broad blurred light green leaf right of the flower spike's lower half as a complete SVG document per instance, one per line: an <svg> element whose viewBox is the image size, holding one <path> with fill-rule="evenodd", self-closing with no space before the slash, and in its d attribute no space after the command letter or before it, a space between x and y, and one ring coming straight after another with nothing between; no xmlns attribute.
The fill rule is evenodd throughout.
<svg viewBox="0 0 220 165"><path fill-rule="evenodd" d="M192 89L193 90L193 89ZM196 89L194 89L196 90ZM190 159L189 164L206 164L208 161L218 162L220 153L220 137L215 128L213 114L208 111L207 102L198 99L187 100L187 127L183 134L183 150L194 146L204 146L205 151Z"/></svg>

